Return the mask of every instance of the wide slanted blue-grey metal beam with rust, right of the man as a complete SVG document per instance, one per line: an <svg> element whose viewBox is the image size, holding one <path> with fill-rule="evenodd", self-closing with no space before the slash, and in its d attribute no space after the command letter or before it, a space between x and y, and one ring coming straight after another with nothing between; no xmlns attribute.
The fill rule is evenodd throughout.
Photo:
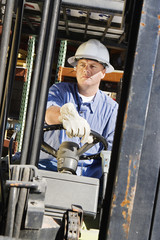
<svg viewBox="0 0 160 240"><path fill-rule="evenodd" d="M155 67L158 69L159 65L159 9L159 0L134 1L122 99L102 217L100 239L103 240L117 237L121 240L150 239L159 173L160 109L156 91L160 85L155 78ZM138 37L136 49L135 36ZM134 59L133 64L130 59Z"/></svg>

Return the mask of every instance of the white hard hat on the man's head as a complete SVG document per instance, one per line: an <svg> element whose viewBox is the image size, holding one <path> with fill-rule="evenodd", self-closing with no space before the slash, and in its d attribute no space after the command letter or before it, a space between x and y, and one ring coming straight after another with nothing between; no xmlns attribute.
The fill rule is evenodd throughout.
<svg viewBox="0 0 160 240"><path fill-rule="evenodd" d="M97 39L90 39L82 43L78 47L75 56L68 58L68 63L75 67L77 61L81 58L100 62L105 66L106 73L114 71L114 67L109 63L110 57L108 49Z"/></svg>

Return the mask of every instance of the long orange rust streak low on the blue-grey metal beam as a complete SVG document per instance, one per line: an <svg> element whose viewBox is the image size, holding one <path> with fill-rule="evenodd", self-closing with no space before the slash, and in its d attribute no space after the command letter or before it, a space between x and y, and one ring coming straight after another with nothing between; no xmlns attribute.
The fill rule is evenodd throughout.
<svg viewBox="0 0 160 240"><path fill-rule="evenodd" d="M131 185L131 173L132 173L131 164L132 164L132 158L130 158L130 160L129 160L125 197L121 203L121 207L123 208L122 216L125 220L125 222L122 226L123 226L123 230L125 232L126 239L128 239L129 227L130 227L130 223L131 223L131 216L132 216L133 203L134 203L134 196L135 196L135 191L136 191L136 183L133 187L130 186ZM135 164L133 166L133 169L136 169Z"/></svg>

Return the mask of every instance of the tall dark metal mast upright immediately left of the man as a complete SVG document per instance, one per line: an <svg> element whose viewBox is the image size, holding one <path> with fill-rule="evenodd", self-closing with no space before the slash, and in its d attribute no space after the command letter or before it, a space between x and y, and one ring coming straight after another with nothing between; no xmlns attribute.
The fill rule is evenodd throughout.
<svg viewBox="0 0 160 240"><path fill-rule="evenodd" d="M45 1L35 75L28 105L21 164L38 161L61 1ZM48 19L47 19L48 18ZM38 106L37 106L38 105ZM30 160L31 159L31 160Z"/></svg>

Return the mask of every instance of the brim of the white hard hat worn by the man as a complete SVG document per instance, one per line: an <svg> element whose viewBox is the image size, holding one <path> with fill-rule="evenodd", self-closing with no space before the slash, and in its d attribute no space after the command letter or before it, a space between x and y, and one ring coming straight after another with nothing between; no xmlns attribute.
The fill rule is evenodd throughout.
<svg viewBox="0 0 160 240"><path fill-rule="evenodd" d="M101 59L98 59L98 58L93 58L93 56L83 56L83 57L78 57L78 56L73 56L73 57L70 57L68 58L68 63L73 66L73 67L76 67L77 65L77 62L79 59L90 59L90 60L93 60L93 61L98 61L100 63L103 63L103 61ZM114 71L114 67L109 63L109 62L104 62L104 64L107 64L107 66L105 67L106 68L106 73L111 73Z"/></svg>

